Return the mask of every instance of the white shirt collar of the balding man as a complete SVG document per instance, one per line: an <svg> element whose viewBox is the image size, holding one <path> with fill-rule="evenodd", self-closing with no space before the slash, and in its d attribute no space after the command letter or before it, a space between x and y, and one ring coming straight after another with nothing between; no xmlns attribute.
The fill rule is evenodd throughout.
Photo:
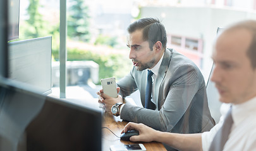
<svg viewBox="0 0 256 151"><path fill-rule="evenodd" d="M256 107L256 97L246 101L241 104L233 104L232 105L232 118L234 121L234 125L238 125L247 118L248 115L252 115L255 112Z"/></svg>

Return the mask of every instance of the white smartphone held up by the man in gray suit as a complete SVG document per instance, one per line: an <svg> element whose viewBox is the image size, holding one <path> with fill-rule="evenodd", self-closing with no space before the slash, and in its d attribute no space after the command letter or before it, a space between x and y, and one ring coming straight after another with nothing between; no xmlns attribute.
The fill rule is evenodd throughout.
<svg viewBox="0 0 256 151"><path fill-rule="evenodd" d="M101 79L103 92L113 98L118 98L118 91L116 90L116 78L109 77Z"/></svg>

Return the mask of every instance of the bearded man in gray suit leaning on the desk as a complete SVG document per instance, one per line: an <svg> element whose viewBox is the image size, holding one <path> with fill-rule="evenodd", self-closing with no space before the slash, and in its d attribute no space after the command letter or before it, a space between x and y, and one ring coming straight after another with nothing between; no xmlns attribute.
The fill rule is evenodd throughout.
<svg viewBox="0 0 256 151"><path fill-rule="evenodd" d="M166 30L159 20L142 18L128 27L127 46L133 69L118 81L118 98L99 94L99 103L121 119L144 123L155 130L200 133L215 125L210 115L204 77L197 65L173 49L166 48ZM148 70L152 76L151 107L147 108ZM143 107L123 103L139 90Z"/></svg>

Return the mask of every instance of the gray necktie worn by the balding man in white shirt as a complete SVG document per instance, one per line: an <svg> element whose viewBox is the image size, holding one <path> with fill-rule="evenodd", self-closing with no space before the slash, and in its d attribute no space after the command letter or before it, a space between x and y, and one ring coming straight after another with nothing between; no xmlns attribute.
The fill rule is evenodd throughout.
<svg viewBox="0 0 256 151"><path fill-rule="evenodd" d="M210 144L209 151L223 150L223 147L228 140L228 135L231 131L231 126L233 125L231 110L232 110L232 106L230 107L230 109L226 115L223 125L217 131L214 139L212 140L212 143Z"/></svg>

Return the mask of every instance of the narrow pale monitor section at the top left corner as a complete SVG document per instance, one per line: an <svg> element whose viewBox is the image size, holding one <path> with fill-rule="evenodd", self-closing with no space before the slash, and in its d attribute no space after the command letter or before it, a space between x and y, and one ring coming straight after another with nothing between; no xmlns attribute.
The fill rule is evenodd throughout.
<svg viewBox="0 0 256 151"><path fill-rule="evenodd" d="M19 38L20 0L8 0L8 40Z"/></svg>

